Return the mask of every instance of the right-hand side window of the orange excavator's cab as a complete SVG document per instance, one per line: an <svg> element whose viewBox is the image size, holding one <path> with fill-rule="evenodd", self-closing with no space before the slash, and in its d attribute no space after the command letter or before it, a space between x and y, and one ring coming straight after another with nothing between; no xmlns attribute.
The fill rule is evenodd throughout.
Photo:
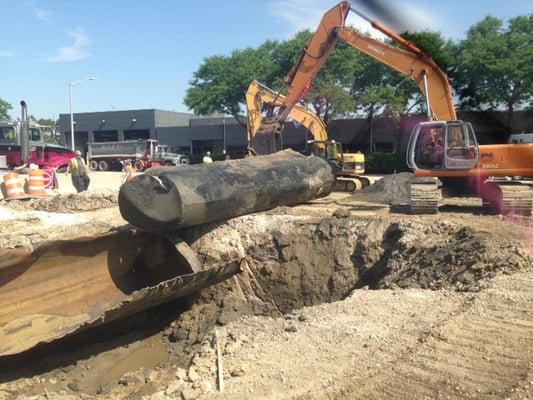
<svg viewBox="0 0 533 400"><path fill-rule="evenodd" d="M465 122L446 124L447 169L470 169L478 160L479 148L472 125Z"/></svg>

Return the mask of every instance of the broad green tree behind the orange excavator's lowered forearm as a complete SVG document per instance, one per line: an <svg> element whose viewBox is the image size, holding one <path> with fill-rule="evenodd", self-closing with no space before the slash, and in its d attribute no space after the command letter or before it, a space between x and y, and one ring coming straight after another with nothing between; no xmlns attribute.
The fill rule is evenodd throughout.
<svg viewBox="0 0 533 400"><path fill-rule="evenodd" d="M240 116L249 83L257 79L274 90L286 91L283 78L297 62L311 36L311 32L302 31L288 40L269 40L255 49L235 50L229 56L206 58L194 73L185 105L197 114L231 114L244 124ZM348 60L343 50L335 52L305 99L326 122L354 109L349 91L338 78L351 70Z"/></svg>

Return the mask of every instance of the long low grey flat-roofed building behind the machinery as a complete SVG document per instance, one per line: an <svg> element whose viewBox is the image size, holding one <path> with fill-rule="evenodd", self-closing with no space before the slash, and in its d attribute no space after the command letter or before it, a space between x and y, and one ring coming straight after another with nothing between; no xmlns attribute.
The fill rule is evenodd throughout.
<svg viewBox="0 0 533 400"><path fill-rule="evenodd" d="M502 143L505 138L506 114L503 112L459 112L459 118L472 122L481 144ZM105 111L74 114L76 149L85 152L88 142L133 139L157 139L182 154L220 153L232 156L246 153L246 127L233 117L198 117L193 114L162 110ZM368 119L338 119L328 126L330 139L343 144L345 151L405 151L413 127L425 117L412 115L401 121L375 118L372 133ZM70 146L70 114L60 115L61 134ZM513 132L533 131L531 113L514 113ZM305 152L308 147L306 129L298 124L285 124L284 147Z"/></svg>

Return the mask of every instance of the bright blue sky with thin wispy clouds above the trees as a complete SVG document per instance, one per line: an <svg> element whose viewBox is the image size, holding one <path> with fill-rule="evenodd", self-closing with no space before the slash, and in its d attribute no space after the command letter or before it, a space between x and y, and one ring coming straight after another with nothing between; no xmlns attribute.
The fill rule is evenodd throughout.
<svg viewBox="0 0 533 400"><path fill-rule="evenodd" d="M204 57L313 29L335 0L0 0L0 98L24 99L36 117L75 110L187 111L183 96ZM356 0L352 0L357 7ZM461 38L485 15L533 12L530 0L397 0L391 8L415 29ZM358 17L350 24L364 30Z"/></svg>

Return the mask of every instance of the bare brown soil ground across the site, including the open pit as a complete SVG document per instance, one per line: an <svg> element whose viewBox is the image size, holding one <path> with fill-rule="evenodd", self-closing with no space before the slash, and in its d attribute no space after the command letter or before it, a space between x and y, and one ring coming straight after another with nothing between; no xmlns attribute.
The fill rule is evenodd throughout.
<svg viewBox="0 0 533 400"><path fill-rule="evenodd" d="M243 273L122 326L0 360L0 399L528 398L533 223L476 207L393 214L362 191L187 229L205 265L245 257ZM94 232L115 229L116 212L69 214L53 230L81 235L90 215L102 224ZM13 213L2 240L9 224L28 234L28 215L34 232L51 226Z"/></svg>

